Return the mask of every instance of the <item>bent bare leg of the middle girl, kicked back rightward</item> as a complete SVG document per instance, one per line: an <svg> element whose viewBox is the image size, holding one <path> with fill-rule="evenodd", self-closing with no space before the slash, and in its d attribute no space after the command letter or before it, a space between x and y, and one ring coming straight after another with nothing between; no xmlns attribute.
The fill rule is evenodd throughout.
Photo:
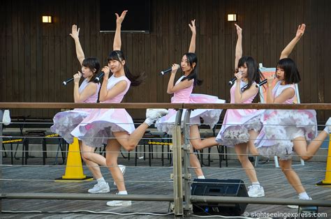
<svg viewBox="0 0 331 219"><path fill-rule="evenodd" d="M205 149L207 147L216 146L219 144L215 141L215 137L201 140L198 125L190 126L190 137L191 144L196 150Z"/></svg>

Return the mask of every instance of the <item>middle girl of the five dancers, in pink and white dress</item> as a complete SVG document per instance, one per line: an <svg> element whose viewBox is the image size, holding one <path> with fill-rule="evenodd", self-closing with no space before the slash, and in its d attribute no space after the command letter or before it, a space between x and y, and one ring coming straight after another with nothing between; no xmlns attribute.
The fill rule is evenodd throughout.
<svg viewBox="0 0 331 219"><path fill-rule="evenodd" d="M191 21L189 27L192 31L192 38L189 47L189 52L184 54L182 57L181 65L184 75L179 77L177 82L175 82L175 75L179 68L179 65L173 64L170 79L168 82L167 93L173 93L174 96L171 98L171 103L225 103L225 100L220 100L216 96L209 96L205 94L192 93L193 86L202 84L201 80L198 80L197 73L197 63L198 58L194 53L196 51L196 20ZM175 110L169 110L169 113L158 121L156 121L156 128L158 130L172 134L172 128L174 127ZM185 110L183 112L182 120L184 120ZM221 115L221 110L214 109L198 109L193 110L190 116L190 142L193 148L197 149L200 146L200 132L198 126L200 126L200 118L203 119L204 123L209 124L210 128L219 121L219 116ZM193 149L191 149L193 152ZM201 169L199 160L197 156L193 153L190 155L191 166L194 168L198 179L205 179L203 171Z"/></svg>

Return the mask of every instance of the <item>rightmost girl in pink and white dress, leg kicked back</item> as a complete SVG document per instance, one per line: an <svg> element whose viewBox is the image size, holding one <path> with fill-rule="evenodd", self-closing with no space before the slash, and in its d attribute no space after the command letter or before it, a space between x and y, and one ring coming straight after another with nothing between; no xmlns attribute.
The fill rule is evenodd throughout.
<svg viewBox="0 0 331 219"><path fill-rule="evenodd" d="M301 79L295 62L288 56L304 34L304 29L305 24L301 24L295 38L281 52L276 78L271 76L267 79L267 103L293 103L294 84ZM275 84L274 80L277 81ZM255 142L258 153L265 157L278 156L279 166L296 190L299 199L311 199L304 190L299 176L292 169L292 156L297 153L303 160L309 160L314 156L323 140L330 134L331 119L328 119L325 129L318 135L315 110L266 110L261 121L263 129ZM311 142L307 144L307 141Z"/></svg>

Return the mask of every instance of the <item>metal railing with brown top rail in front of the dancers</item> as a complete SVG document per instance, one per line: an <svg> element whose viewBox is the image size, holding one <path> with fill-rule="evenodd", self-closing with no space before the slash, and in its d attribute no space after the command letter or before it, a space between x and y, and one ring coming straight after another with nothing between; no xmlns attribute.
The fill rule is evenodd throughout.
<svg viewBox="0 0 331 219"><path fill-rule="evenodd" d="M3 193L2 180L0 180L0 210L2 199L93 199L93 200L135 200L135 201L163 201L174 202L175 216L189 216L193 212L194 202L219 202L219 203L247 203L247 204L296 204L302 206L331 206L331 201L325 200L297 200L279 198L249 197L214 197L191 195L191 174L189 173L189 119L191 110L194 109L281 109L281 110L331 110L331 104L186 104L186 103L0 103L0 109L61 109L61 108L171 108L177 110L175 126L172 131L173 153L173 196L166 195L85 195L85 194L56 194L56 193ZM184 144L181 142L181 123L184 114ZM2 110L1 110L2 111ZM2 149L2 113L0 113L0 147ZM184 157L184 174L182 173L182 153ZM0 179L2 179L2 153L0 153ZM184 183L184 191L183 191Z"/></svg>

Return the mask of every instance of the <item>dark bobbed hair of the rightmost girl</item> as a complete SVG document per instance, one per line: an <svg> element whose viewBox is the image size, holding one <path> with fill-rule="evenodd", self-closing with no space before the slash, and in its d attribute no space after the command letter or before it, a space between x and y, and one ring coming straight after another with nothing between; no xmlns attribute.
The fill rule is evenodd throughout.
<svg viewBox="0 0 331 219"><path fill-rule="evenodd" d="M293 59L280 59L277 63L277 68L284 70L285 84L297 84L301 81L299 70L297 70L297 65Z"/></svg>

